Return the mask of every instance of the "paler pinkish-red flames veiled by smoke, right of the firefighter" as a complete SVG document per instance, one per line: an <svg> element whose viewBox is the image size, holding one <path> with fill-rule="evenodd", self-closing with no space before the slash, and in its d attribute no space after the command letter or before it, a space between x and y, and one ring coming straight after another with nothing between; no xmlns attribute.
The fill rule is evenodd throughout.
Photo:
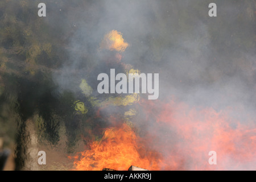
<svg viewBox="0 0 256 182"><path fill-rule="evenodd" d="M147 101L148 102L148 101ZM165 155L164 169L243 170L255 169L255 121L231 117L234 108L216 111L198 109L169 101L160 105L152 123L159 142L155 146ZM148 110L156 107L147 104ZM241 111L241 110L240 110ZM149 118L154 116L148 114ZM148 122L148 121L147 121ZM166 133L161 133L161 130ZM152 133L151 133L152 135ZM209 165L209 151L216 151L217 165Z"/></svg>

